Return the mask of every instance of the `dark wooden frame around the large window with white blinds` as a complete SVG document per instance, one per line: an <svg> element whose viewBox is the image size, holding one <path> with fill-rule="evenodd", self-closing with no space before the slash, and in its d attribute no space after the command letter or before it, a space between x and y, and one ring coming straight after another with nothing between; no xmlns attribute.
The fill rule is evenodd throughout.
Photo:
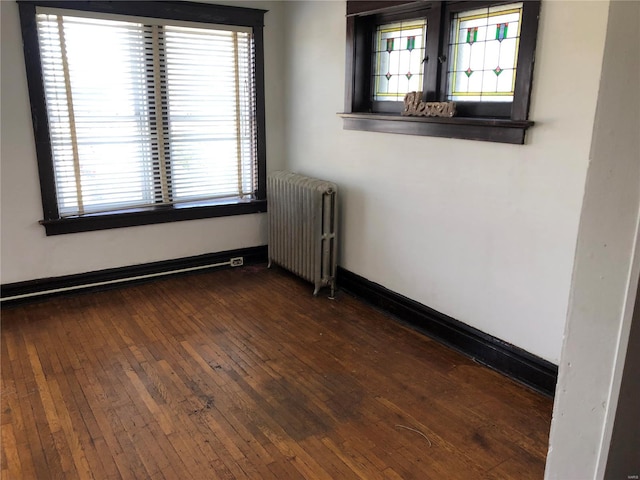
<svg viewBox="0 0 640 480"><path fill-rule="evenodd" d="M196 220L231 215L265 212L266 200L266 134L264 88L264 14L266 10L177 1L47 1L18 0L24 43L31 116L36 142L40 192L47 235L86 232L110 228ZM258 188L254 198L233 202L194 202L163 205L136 210L114 211L61 218L55 188L55 176L49 122L42 78L40 46L36 29L36 7L131 15L166 20L250 27L255 43L256 129Z"/></svg>

